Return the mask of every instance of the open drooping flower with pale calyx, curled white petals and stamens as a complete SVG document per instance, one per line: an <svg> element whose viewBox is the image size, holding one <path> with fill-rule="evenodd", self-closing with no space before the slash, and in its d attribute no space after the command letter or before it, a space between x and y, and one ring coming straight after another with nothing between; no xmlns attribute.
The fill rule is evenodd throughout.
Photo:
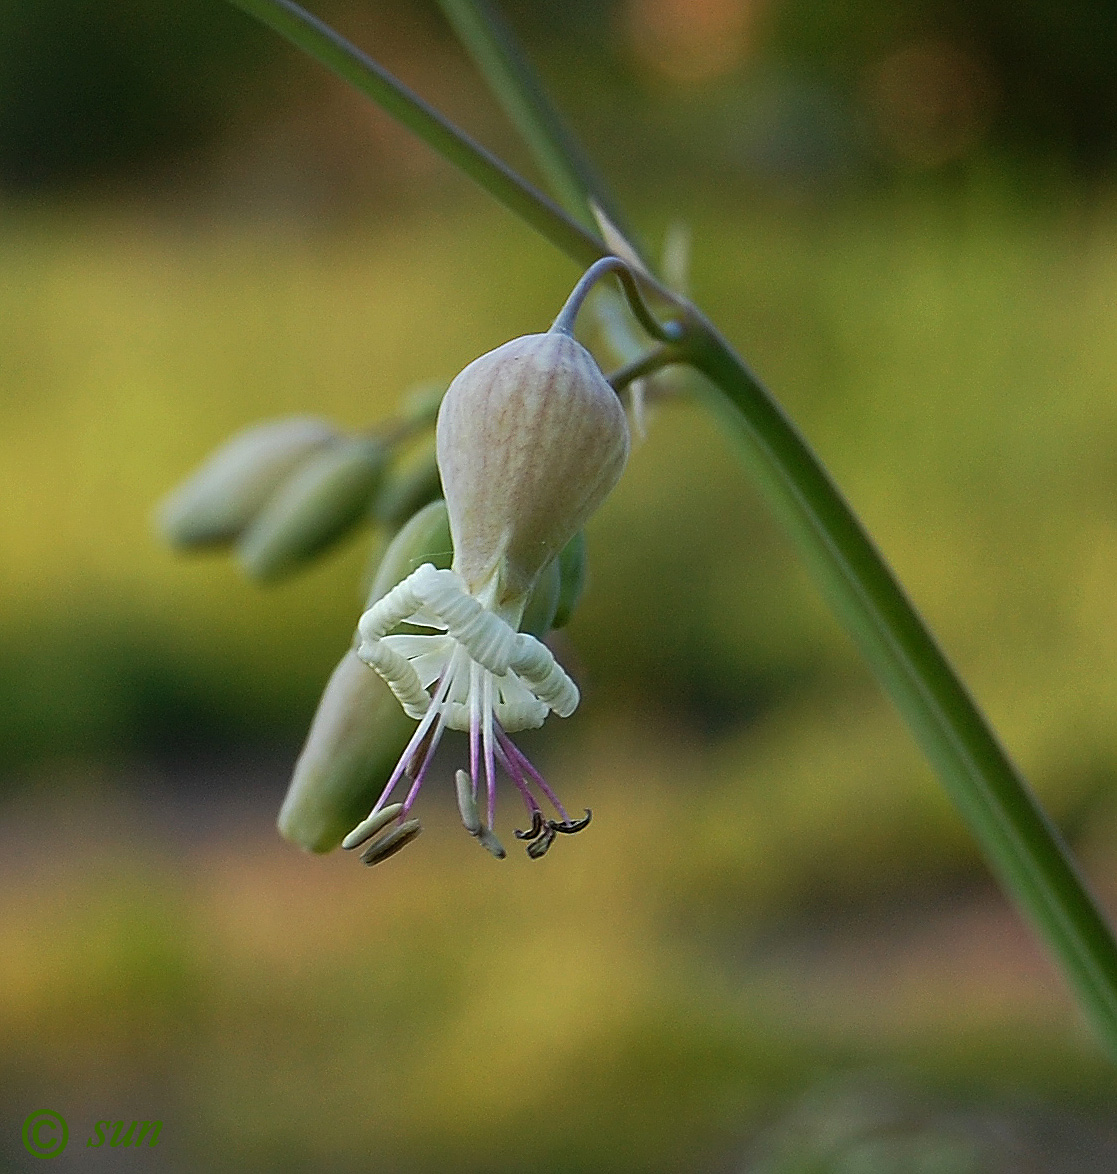
<svg viewBox="0 0 1117 1174"><path fill-rule="evenodd" d="M550 649L519 627L540 576L605 500L627 456L617 394L565 325L498 346L451 383L438 413L437 457L453 562L440 571L419 566L358 625L358 656L419 723L369 818L344 841L358 846L398 819L365 850L366 863L417 834L408 814L446 728L469 734L470 769L456 775L458 805L493 855L504 855L492 832L498 765L527 808L531 826L517 836L529 841L531 856L588 822L588 812L570 818L509 737L541 726L551 711L568 716L579 700ZM401 623L412 630L395 632ZM410 789L389 804L405 775ZM557 818L544 815L537 794Z"/></svg>

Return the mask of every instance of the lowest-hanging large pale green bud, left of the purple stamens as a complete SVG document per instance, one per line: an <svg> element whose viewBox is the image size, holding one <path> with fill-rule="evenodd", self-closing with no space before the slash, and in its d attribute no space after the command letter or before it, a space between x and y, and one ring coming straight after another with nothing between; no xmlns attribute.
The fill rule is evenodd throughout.
<svg viewBox="0 0 1117 1174"><path fill-rule="evenodd" d="M337 848L368 814L413 726L376 673L345 653L295 764L280 834L311 852Z"/></svg>

